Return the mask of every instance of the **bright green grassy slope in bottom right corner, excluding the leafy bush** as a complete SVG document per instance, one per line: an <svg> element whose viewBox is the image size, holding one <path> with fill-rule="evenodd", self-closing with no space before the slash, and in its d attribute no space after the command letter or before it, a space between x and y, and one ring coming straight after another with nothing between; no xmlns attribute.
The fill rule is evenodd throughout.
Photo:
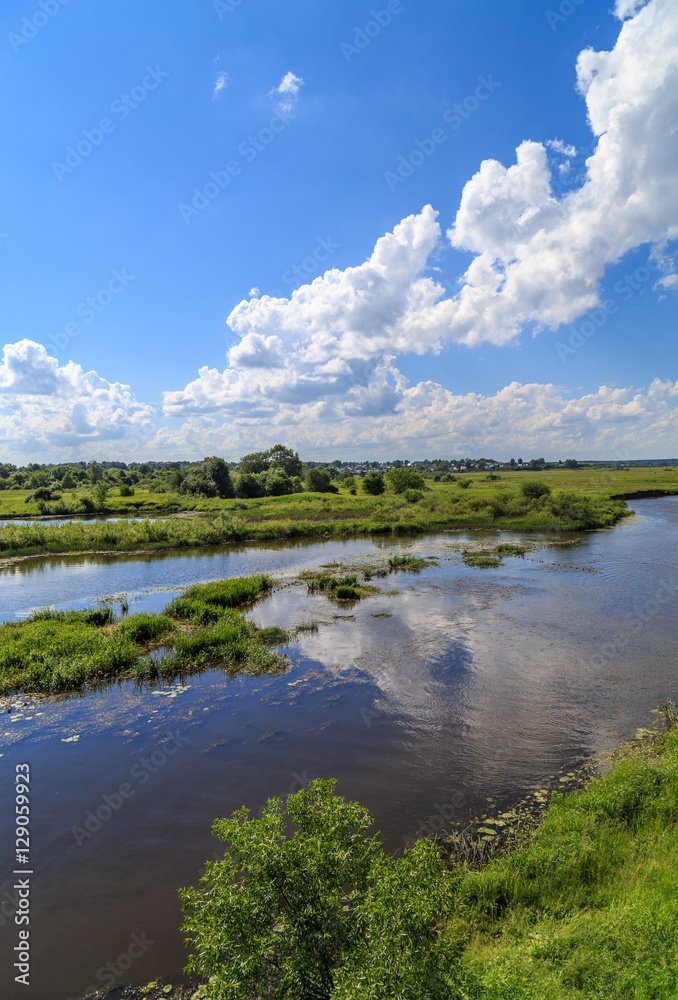
<svg viewBox="0 0 678 1000"><path fill-rule="evenodd" d="M469 1000L678 996L678 731L553 795L528 843L456 872Z"/></svg>

